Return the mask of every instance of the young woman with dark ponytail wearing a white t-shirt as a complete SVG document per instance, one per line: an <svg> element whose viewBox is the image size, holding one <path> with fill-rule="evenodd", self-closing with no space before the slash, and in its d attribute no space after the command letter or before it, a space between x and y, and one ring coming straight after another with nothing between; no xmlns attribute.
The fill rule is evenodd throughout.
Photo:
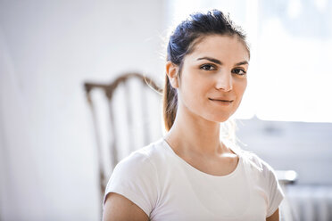
<svg viewBox="0 0 332 221"><path fill-rule="evenodd" d="M220 140L245 93L245 35L220 11L195 13L168 45L168 133L114 169L104 220L279 220L283 192L255 154Z"/></svg>

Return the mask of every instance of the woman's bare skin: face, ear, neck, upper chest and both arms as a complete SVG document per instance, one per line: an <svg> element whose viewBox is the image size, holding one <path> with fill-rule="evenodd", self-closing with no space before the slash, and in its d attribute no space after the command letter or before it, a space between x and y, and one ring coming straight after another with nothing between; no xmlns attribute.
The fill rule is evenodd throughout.
<svg viewBox="0 0 332 221"><path fill-rule="evenodd" d="M238 37L211 35L185 56L181 70L166 63L171 86L178 90L178 110L164 138L179 157L204 173L225 176L237 167L237 154L220 143L220 122L237 111L245 93L248 62L249 53ZM127 198L111 193L104 220L148 217ZM279 220L278 209L266 220Z"/></svg>

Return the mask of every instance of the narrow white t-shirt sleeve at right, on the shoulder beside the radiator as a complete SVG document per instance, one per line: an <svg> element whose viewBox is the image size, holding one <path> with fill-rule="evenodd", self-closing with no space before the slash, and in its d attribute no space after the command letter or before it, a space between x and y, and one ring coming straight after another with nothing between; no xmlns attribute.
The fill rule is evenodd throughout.
<svg viewBox="0 0 332 221"><path fill-rule="evenodd" d="M268 211L267 217L270 217L279 207L281 201L284 199L284 192L282 191L278 178L269 164L263 162L263 169L265 170L265 177L268 182Z"/></svg>

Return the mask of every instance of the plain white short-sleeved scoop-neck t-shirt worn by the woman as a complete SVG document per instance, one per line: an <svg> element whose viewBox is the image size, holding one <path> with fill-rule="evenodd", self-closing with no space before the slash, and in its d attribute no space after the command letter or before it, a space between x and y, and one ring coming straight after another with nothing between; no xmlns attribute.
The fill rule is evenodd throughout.
<svg viewBox="0 0 332 221"><path fill-rule="evenodd" d="M238 151L237 168L212 176L181 159L163 139L132 152L107 184L145 211L151 221L266 220L284 198L270 166Z"/></svg>

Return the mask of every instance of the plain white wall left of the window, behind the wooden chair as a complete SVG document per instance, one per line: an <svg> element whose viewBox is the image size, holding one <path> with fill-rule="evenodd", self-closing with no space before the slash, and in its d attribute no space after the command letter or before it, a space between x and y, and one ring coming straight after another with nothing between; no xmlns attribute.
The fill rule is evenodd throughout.
<svg viewBox="0 0 332 221"><path fill-rule="evenodd" d="M0 1L0 219L100 219L83 82L162 76L163 1Z"/></svg>

